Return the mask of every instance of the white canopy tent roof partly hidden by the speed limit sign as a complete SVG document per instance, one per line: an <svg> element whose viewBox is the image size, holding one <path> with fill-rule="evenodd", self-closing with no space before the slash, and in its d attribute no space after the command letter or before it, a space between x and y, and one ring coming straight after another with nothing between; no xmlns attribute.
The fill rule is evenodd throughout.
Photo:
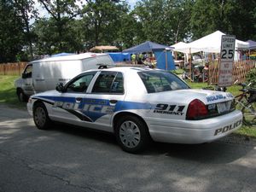
<svg viewBox="0 0 256 192"><path fill-rule="evenodd" d="M209 53L219 53L221 46L221 37L225 35L224 32L212 32L211 34L199 38L189 44L182 44L177 48L173 49L173 51L178 51L182 53L196 53L196 52L209 52ZM248 49L249 44L247 42L243 42L236 39L235 49Z"/></svg>

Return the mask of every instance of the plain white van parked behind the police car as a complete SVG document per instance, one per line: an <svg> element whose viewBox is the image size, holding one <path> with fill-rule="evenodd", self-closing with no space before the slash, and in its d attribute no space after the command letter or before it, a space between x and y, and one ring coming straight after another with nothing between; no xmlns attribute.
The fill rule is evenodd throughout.
<svg viewBox="0 0 256 192"><path fill-rule="evenodd" d="M107 54L84 53L49 57L28 63L22 77L15 81L20 102L29 96L45 90L54 90L56 84L67 81L89 69L114 67L115 64Z"/></svg>

